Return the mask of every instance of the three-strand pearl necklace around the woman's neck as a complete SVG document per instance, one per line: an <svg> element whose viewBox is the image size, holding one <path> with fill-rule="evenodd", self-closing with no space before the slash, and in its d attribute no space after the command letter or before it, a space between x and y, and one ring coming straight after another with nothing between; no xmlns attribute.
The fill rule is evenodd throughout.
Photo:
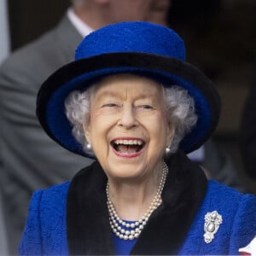
<svg viewBox="0 0 256 256"><path fill-rule="evenodd" d="M108 213L109 213L109 223L113 233L118 236L120 239L124 240L133 240L140 236L144 226L148 223L148 218L154 212L154 210L160 206L162 203L161 194L164 189L166 183L166 176L168 173L168 167L166 163L164 163L162 169L162 176L160 178L160 184L157 189L156 194L154 195L154 199L148 207L147 211L144 213L143 217L134 222L125 222L121 218L119 218L115 208L113 207L113 202L110 200L109 196L109 183L107 183L106 194L107 194L107 205L108 205ZM125 230L128 228L129 230Z"/></svg>

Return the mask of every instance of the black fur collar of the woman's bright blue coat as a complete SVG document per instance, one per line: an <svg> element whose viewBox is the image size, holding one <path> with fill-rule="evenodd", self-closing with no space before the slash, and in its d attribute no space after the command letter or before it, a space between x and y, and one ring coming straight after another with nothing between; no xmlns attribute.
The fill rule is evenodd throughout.
<svg viewBox="0 0 256 256"><path fill-rule="evenodd" d="M207 179L182 152L166 160L169 174L163 204L131 250L132 255L176 254L189 230L207 189ZM72 255L113 255L108 221L107 177L95 162L81 170L67 194L67 242Z"/></svg>

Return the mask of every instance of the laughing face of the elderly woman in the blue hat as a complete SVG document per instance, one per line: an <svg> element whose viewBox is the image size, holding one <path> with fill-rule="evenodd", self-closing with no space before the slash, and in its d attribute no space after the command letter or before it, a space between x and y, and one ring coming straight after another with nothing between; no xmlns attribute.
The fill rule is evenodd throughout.
<svg viewBox="0 0 256 256"><path fill-rule="evenodd" d="M160 84L119 74L97 84L84 133L108 178L137 178L159 170L171 127Z"/></svg>

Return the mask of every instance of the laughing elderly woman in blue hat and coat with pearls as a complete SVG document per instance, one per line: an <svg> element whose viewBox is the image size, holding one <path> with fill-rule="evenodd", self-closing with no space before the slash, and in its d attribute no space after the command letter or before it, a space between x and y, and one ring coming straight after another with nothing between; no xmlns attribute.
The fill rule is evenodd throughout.
<svg viewBox="0 0 256 256"><path fill-rule="evenodd" d="M96 160L35 192L20 254L238 254L253 240L255 197L207 181L185 155L211 136L220 102L184 58L171 29L119 23L44 82L44 130Z"/></svg>

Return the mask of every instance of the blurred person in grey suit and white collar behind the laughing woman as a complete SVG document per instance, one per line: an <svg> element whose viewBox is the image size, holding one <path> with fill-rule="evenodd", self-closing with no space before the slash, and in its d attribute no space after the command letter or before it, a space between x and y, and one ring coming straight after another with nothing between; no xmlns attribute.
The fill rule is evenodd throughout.
<svg viewBox="0 0 256 256"><path fill-rule="evenodd" d="M3 62L0 185L9 253L17 252L32 192L67 181L90 163L55 145L41 130L35 115L39 86L58 67L73 61L75 48L88 33L125 20L166 25L170 5L169 0L73 0L54 29Z"/></svg>

